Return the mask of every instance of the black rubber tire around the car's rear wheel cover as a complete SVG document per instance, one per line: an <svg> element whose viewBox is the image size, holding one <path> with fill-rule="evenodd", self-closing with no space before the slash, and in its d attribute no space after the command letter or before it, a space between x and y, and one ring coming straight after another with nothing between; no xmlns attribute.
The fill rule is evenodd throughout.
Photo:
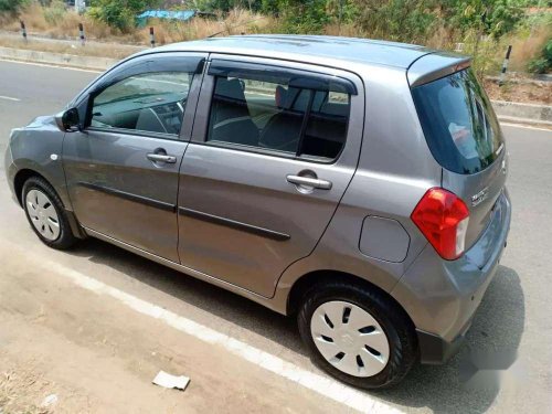
<svg viewBox="0 0 552 414"><path fill-rule="evenodd" d="M310 332L315 310L327 301L341 300L368 311L383 328L390 344L390 358L385 368L373 376L354 376L338 370L318 351ZM302 297L297 316L302 341L310 351L311 361L338 380L353 386L374 390L396 385L418 360L414 327L403 309L383 293L360 285L330 282L317 285Z"/></svg>

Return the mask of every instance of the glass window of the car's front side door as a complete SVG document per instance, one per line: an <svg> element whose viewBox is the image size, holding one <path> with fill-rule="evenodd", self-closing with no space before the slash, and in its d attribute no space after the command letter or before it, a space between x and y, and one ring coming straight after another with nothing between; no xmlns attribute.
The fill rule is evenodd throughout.
<svg viewBox="0 0 552 414"><path fill-rule="evenodd" d="M185 72L127 77L94 98L91 126L178 135L192 78Z"/></svg>

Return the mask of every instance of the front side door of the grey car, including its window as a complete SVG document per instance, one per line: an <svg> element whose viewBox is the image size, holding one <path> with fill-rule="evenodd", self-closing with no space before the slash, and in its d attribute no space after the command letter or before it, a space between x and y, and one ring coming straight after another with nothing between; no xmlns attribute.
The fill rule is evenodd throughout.
<svg viewBox="0 0 552 414"><path fill-rule="evenodd" d="M179 167L191 134L204 55L152 54L96 82L77 104L63 166L88 231L179 262Z"/></svg>

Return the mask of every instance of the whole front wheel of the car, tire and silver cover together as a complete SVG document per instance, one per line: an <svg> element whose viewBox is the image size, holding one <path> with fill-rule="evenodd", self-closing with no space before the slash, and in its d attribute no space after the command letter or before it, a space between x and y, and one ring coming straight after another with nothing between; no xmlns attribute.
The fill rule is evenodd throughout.
<svg viewBox="0 0 552 414"><path fill-rule="evenodd" d="M52 185L40 177L31 177L23 185L22 201L26 219L39 238L50 247L65 250L76 237L63 204Z"/></svg>

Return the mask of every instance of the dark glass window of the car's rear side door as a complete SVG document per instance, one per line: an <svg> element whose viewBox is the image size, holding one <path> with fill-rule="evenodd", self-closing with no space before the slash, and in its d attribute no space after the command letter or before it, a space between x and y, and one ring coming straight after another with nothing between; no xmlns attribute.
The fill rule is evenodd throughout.
<svg viewBox="0 0 552 414"><path fill-rule="evenodd" d="M339 85L270 74L215 76L208 141L332 160L344 145L349 112L350 95Z"/></svg>

